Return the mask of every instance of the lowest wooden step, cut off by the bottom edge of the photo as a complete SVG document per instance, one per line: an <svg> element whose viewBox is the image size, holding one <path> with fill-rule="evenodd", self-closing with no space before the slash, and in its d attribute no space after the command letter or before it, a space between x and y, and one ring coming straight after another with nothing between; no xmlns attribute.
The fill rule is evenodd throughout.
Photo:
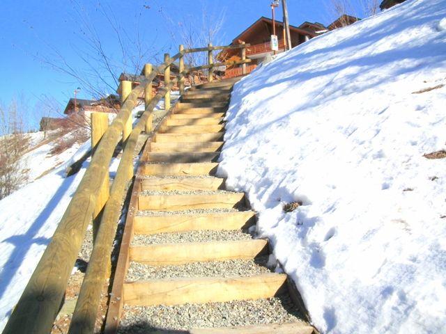
<svg viewBox="0 0 446 334"><path fill-rule="evenodd" d="M286 324L261 324L219 328L192 328L187 334L315 334L312 326L304 321ZM162 331L162 334L178 334L178 331Z"/></svg>

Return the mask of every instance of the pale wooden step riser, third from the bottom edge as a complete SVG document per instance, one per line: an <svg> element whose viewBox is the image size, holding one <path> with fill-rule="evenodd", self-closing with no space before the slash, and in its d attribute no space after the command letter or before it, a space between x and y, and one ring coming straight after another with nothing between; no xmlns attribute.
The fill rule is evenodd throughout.
<svg viewBox="0 0 446 334"><path fill-rule="evenodd" d="M249 260L268 254L264 239L190 242L131 246L130 261L151 266L180 265L191 262Z"/></svg>

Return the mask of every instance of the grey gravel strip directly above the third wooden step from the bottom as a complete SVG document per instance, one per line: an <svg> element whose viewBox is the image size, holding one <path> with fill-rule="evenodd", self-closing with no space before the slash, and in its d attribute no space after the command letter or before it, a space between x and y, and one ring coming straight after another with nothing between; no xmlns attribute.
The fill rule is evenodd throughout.
<svg viewBox="0 0 446 334"><path fill-rule="evenodd" d="M178 244L182 242L230 241L249 240L252 235L247 230L213 231L200 230L176 233L136 234L132 239L132 246L150 244Z"/></svg>

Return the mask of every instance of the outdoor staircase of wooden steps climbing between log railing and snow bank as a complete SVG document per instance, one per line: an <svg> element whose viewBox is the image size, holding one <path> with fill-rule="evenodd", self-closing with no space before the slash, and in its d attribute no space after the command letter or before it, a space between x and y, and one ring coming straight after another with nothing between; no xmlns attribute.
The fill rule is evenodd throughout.
<svg viewBox="0 0 446 334"><path fill-rule="evenodd" d="M151 278L139 272L136 276L142 278L129 277L130 271L141 268L175 271L175 266L187 264L255 261L270 253L267 240L249 234L256 216L245 194L226 191L225 180L214 176L224 144L224 113L235 82L215 81L188 90L153 140L146 143L130 200L105 333L143 333L133 332L130 320L120 325L121 317L130 318L134 307L295 297L286 274L264 266L261 273L240 276L187 273L185 277ZM224 237L226 232L229 237ZM189 327L179 332L141 324L141 320L135 326L146 328L144 333L315 333L307 322L293 319L279 324Z"/></svg>

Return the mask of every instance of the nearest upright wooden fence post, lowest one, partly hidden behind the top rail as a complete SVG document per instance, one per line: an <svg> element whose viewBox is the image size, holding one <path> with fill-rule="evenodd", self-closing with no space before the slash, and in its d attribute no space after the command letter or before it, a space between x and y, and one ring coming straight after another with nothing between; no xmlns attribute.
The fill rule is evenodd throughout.
<svg viewBox="0 0 446 334"><path fill-rule="evenodd" d="M98 146L100 139L103 134L107 131L109 127L109 116L107 113L91 113L91 149L94 154L95 148ZM110 196L110 181L109 173L105 175L104 181L98 193L98 199L96 200L95 209L93 211L93 242L96 239L96 234L98 234L100 215L102 214L102 209L105 207L105 203Z"/></svg>

